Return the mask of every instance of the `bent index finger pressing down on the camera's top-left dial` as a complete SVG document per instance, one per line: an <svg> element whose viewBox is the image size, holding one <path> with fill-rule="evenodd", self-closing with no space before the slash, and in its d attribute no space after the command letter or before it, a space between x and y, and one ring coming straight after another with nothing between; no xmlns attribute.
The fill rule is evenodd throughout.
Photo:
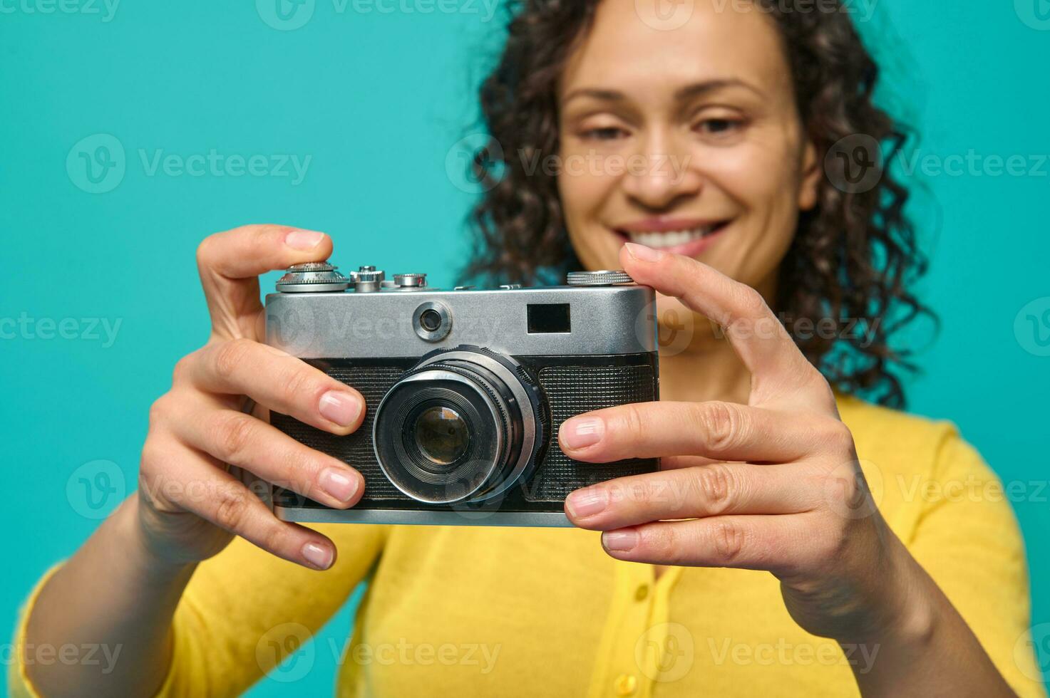
<svg viewBox="0 0 1050 698"><path fill-rule="evenodd" d="M332 254L324 233L287 226L245 226L205 238L197 248L197 270L218 337L251 336L259 311L259 274Z"/></svg>

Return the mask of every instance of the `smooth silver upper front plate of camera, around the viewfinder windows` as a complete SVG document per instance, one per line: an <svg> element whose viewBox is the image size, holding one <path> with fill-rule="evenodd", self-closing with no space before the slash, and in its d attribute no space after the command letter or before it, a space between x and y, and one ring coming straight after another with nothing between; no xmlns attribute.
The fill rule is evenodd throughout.
<svg viewBox="0 0 1050 698"><path fill-rule="evenodd" d="M413 316L440 301L452 331L420 337ZM569 306L570 332L529 332L529 305ZM267 296L267 343L303 359L418 358L484 346L509 356L592 356L656 351L655 294L640 285Z"/></svg>

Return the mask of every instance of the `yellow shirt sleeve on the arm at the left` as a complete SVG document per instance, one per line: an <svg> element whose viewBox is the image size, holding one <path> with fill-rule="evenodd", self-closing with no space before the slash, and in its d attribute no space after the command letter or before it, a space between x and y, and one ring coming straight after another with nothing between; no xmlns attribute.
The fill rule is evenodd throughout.
<svg viewBox="0 0 1050 698"><path fill-rule="evenodd" d="M326 572L275 557L243 538L197 567L175 610L171 668L158 696L239 695L313 638L369 573L387 531L361 525L314 528L338 549ZM22 647L26 619L51 573L26 602L15 648ZM8 671L9 693L37 698L22 653L17 654Z"/></svg>

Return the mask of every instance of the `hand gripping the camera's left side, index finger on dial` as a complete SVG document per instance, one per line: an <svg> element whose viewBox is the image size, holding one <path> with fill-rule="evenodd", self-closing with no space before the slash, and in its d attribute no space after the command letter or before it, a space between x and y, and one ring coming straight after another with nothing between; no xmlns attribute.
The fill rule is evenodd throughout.
<svg viewBox="0 0 1050 698"><path fill-rule="evenodd" d="M336 435L361 424L361 395L303 361L262 343L258 275L332 253L323 233L247 226L206 238L197 267L211 336L175 365L171 389L150 410L142 451L138 522L148 552L176 567L219 552L233 535L312 569L328 569L335 546L278 521L228 472L234 465L327 506L361 498L361 474L268 423L269 409ZM258 408L245 414L246 397Z"/></svg>

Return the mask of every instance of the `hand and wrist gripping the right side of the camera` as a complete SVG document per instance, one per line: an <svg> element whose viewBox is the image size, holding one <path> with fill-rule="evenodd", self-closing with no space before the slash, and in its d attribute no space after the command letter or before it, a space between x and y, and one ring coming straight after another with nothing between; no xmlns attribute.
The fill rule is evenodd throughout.
<svg viewBox="0 0 1050 698"><path fill-rule="evenodd" d="M747 405L652 402L566 421L559 441L575 460L662 459L658 472L573 492L572 523L604 531L617 559L768 570L796 622L840 642L916 622L921 568L872 500L827 381L761 295L649 248L627 246L621 261L638 283L721 325L751 373L751 396Z"/></svg>

